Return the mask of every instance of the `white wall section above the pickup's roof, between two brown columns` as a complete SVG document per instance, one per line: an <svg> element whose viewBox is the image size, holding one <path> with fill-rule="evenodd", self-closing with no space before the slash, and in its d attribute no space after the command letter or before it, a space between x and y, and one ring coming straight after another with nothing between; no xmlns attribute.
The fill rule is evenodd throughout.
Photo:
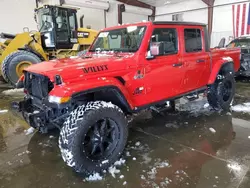
<svg viewBox="0 0 250 188"><path fill-rule="evenodd" d="M195 10L199 9L199 10ZM156 7L156 21L172 21L172 15L183 14L183 21L207 24L207 5L201 0L187 0L180 3Z"/></svg>

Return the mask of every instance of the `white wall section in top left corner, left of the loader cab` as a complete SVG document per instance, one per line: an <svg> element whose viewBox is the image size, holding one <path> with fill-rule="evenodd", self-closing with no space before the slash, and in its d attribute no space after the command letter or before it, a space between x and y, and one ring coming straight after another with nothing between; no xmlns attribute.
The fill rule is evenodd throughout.
<svg viewBox="0 0 250 188"><path fill-rule="evenodd" d="M24 27L37 30L35 0L0 0L0 32L20 33Z"/></svg>

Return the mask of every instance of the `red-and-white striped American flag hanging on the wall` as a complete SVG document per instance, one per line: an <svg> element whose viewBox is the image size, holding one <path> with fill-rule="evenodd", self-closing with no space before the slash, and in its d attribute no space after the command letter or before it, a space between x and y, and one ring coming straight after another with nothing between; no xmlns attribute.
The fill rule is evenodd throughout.
<svg viewBox="0 0 250 188"><path fill-rule="evenodd" d="M250 3L232 5L234 37L250 34Z"/></svg>

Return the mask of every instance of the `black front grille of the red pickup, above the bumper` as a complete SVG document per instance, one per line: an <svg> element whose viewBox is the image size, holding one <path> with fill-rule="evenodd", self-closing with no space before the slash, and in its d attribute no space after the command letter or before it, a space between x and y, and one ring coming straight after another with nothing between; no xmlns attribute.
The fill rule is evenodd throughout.
<svg viewBox="0 0 250 188"><path fill-rule="evenodd" d="M48 77L31 72L25 72L24 88L27 90L29 95L43 99L48 96L53 87L53 83Z"/></svg>

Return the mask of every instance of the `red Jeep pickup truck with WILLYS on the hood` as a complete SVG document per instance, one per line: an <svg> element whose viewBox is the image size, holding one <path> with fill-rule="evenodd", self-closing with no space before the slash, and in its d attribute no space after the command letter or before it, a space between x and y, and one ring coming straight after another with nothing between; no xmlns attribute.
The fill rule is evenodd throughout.
<svg viewBox="0 0 250 188"><path fill-rule="evenodd" d="M41 132L61 129L62 158L76 172L102 172L124 150L127 116L204 91L213 108L230 108L240 49L210 50L208 38L188 22L104 29L85 55L25 69L19 110Z"/></svg>

